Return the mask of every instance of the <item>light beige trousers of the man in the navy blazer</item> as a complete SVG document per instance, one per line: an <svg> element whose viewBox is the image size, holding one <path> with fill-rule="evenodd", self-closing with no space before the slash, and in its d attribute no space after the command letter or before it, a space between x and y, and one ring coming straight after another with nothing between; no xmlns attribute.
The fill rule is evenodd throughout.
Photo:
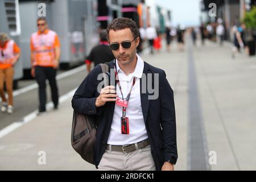
<svg viewBox="0 0 256 182"><path fill-rule="evenodd" d="M105 150L99 171L155 171L151 147L146 146L128 153Z"/></svg>

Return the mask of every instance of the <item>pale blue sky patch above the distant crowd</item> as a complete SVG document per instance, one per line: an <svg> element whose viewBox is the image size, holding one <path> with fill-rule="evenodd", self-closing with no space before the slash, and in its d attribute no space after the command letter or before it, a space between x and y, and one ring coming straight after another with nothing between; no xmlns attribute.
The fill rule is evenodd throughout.
<svg viewBox="0 0 256 182"><path fill-rule="evenodd" d="M172 25L197 26L200 24L201 0L155 0L156 5L171 10Z"/></svg>

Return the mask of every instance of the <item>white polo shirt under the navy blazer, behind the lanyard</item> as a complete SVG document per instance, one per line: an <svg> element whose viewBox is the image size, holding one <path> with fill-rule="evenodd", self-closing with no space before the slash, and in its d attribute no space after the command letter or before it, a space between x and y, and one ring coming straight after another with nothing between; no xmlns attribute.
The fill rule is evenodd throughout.
<svg viewBox="0 0 256 182"><path fill-rule="evenodd" d="M117 60L117 72L120 85L123 92L123 99L125 100L131 85L133 84L133 77L137 77L133 89L131 90L131 96L129 104L126 108L126 117L129 118L129 131L130 134L121 134L121 117L123 107L115 105L113 121L108 138L108 144L123 146L126 144L133 144L141 142L147 139L146 126L144 124L142 107L141 107L141 94L140 94L140 80L142 77L144 62L137 55L137 65L133 73L128 76L122 71L118 65ZM119 86L116 85L118 97L122 99L122 94L119 90Z"/></svg>

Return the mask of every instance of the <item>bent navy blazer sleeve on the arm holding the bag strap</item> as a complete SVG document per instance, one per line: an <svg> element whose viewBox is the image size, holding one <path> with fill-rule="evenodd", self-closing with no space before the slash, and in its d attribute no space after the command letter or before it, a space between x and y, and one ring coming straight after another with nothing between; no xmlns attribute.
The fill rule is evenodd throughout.
<svg viewBox="0 0 256 182"><path fill-rule="evenodd" d="M100 65L97 65L77 88L73 98L72 107L80 114L99 115L101 107L96 107L98 74L102 73ZM99 94L99 93L98 93Z"/></svg>

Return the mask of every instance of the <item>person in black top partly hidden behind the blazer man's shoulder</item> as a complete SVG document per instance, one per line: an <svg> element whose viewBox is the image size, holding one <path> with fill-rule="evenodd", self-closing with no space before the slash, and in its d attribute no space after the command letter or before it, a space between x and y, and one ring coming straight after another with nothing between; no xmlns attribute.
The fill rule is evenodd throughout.
<svg viewBox="0 0 256 182"><path fill-rule="evenodd" d="M106 63L115 59L111 49L109 48L108 40L106 39L106 30L100 31L100 45L94 47L90 51L89 56L85 58L87 72L91 70L91 63L96 67L100 63Z"/></svg>

